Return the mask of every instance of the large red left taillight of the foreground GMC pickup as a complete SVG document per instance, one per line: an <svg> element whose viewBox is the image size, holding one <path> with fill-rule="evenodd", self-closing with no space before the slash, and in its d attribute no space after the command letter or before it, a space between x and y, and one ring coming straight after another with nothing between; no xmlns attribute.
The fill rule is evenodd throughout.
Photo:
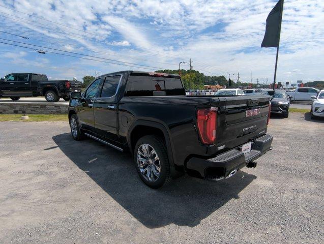
<svg viewBox="0 0 324 244"><path fill-rule="evenodd" d="M216 142L217 108L202 108L197 110L197 126L203 144Z"/></svg>

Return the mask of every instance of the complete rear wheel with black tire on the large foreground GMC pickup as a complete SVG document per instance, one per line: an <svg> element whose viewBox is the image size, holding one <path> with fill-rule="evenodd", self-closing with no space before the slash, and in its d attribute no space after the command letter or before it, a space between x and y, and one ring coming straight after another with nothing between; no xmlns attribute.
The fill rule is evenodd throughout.
<svg viewBox="0 0 324 244"><path fill-rule="evenodd" d="M141 180L151 188L160 188L171 178L167 149L161 137L140 138L134 148L134 163Z"/></svg>

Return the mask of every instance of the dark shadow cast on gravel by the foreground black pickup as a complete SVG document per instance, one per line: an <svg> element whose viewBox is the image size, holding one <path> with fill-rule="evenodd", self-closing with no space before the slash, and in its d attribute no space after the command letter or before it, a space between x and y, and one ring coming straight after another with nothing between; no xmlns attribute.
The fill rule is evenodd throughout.
<svg viewBox="0 0 324 244"><path fill-rule="evenodd" d="M129 153L91 139L74 141L70 133L52 138L73 163L148 228L172 223L194 227L232 198L239 198L256 178L242 171L218 182L183 176L153 190L139 179Z"/></svg>

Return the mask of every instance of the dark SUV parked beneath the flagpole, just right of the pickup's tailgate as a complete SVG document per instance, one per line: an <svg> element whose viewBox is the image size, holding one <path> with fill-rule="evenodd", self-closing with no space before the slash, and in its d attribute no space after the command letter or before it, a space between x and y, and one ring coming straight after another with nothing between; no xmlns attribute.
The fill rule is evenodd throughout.
<svg viewBox="0 0 324 244"><path fill-rule="evenodd" d="M290 96L287 95L285 90L267 90L262 95L271 97L271 112L280 113L283 117L289 116Z"/></svg>

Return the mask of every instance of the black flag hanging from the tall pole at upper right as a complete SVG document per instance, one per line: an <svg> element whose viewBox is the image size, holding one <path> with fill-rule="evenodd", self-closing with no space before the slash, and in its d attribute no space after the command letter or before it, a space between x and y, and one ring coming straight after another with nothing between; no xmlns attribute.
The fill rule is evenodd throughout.
<svg viewBox="0 0 324 244"><path fill-rule="evenodd" d="M279 0L267 18L266 33L261 47L279 47L283 0Z"/></svg>

